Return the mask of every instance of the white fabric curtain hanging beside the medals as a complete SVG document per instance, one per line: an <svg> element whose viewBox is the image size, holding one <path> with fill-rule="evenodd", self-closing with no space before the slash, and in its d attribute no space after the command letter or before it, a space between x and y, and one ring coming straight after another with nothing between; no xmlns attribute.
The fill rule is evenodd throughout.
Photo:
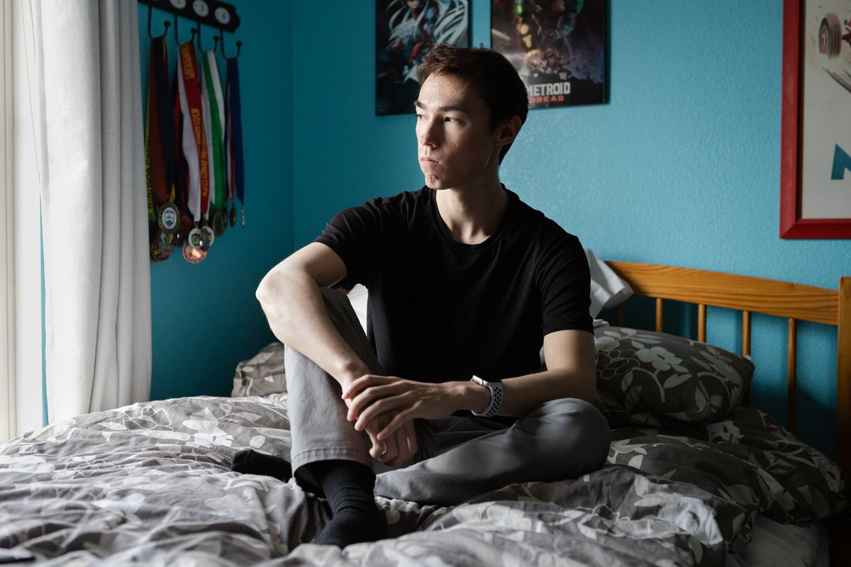
<svg viewBox="0 0 851 567"><path fill-rule="evenodd" d="M139 26L136 0L19 1L32 37L55 422L150 395Z"/></svg>

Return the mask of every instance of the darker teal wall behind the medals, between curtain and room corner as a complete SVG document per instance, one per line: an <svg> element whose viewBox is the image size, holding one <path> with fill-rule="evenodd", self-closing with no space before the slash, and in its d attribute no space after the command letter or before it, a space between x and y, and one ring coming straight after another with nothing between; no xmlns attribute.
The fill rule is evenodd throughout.
<svg viewBox="0 0 851 567"><path fill-rule="evenodd" d="M239 58L245 152L245 229L237 225L216 239L208 257L191 265L177 251L151 264L153 370L151 398L231 393L234 368L273 337L254 290L293 248L292 63L288 41L291 4L276 0L229 0L242 20L226 34L229 55ZM148 9L139 4L142 85L149 60ZM163 32L171 14L154 9L151 33ZM191 37L180 20L180 39ZM216 31L203 28L203 47ZM168 31L169 69L177 46ZM224 77L224 60L219 58ZM172 77L174 78L174 77Z"/></svg>

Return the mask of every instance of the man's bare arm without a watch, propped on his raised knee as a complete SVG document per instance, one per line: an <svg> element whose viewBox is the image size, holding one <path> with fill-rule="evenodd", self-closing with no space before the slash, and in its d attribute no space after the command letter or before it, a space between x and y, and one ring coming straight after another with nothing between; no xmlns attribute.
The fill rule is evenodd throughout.
<svg viewBox="0 0 851 567"><path fill-rule="evenodd" d="M343 388L369 369L328 318L319 288L345 277L340 256L312 242L272 268L256 294L278 340L316 362Z"/></svg>

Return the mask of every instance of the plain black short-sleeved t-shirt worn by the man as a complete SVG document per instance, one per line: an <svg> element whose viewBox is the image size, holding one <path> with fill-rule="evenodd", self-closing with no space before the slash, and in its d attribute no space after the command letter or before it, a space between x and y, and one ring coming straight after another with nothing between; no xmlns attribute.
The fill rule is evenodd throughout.
<svg viewBox="0 0 851 567"><path fill-rule="evenodd" d="M585 252L510 190L499 228L454 241L424 187L337 213L317 242L368 287L368 330L388 376L441 383L538 371L545 334L592 332Z"/></svg>

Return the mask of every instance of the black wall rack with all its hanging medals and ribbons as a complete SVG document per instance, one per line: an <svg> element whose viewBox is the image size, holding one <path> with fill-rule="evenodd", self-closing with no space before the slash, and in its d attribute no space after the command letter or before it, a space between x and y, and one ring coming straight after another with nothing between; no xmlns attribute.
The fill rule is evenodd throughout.
<svg viewBox="0 0 851 567"><path fill-rule="evenodd" d="M237 58L242 51L243 43L237 41L236 54L228 56L223 41L224 32L236 31L240 20L236 9L231 4L219 0L139 0L139 2L148 7L148 37L151 38L151 66L148 74L146 103L149 112L146 115L145 141L151 262L168 259L172 251L177 248L182 250L183 258L187 262L197 264L206 258L214 239L223 235L228 225L233 227L237 223L237 199L240 201L242 226L243 229L245 228L242 128L237 69ZM174 43L178 44L180 50L177 72L180 77L178 79L180 88L176 85L171 88L166 69L168 57L165 38L171 24L168 20L163 22L165 26L163 35L153 37L151 35L152 8L174 14ZM180 40L178 31L180 17L197 22L197 27L191 29L191 39L186 42ZM203 26L210 26L220 31L221 37L218 35L213 37L214 46L209 50L202 48ZM199 54L195 51L196 43ZM226 60L224 85L221 84L216 63L217 48L220 48L221 56ZM173 103L166 93L180 97L180 103L176 101ZM173 106L180 108L180 111L175 111L177 113L175 117L178 122L182 121L182 127L171 120L170 109ZM164 109L167 110L163 112ZM195 123L195 118L186 118L186 116L202 115L200 125ZM208 136L204 132L205 126L212 128L208 131ZM198 172L195 173L195 181L191 180L192 175L187 173L189 170L186 167L181 168L175 165L176 162L180 162L180 157L177 157L176 162L173 159L173 156L180 154L180 128L184 130L190 128L190 131L194 133L197 145L193 147L197 151L192 151L185 157L193 162L198 160L197 167L200 167L200 170L195 169ZM182 147L186 148L185 145ZM156 179L156 183L152 179ZM178 182L176 179L183 179L183 181ZM187 189L186 185L191 186ZM194 197L193 187L196 191ZM224 188L224 195L218 191L220 188ZM197 193L199 190L200 196ZM222 196L224 196L223 203L220 201ZM196 203L194 210L188 203L193 198L198 199L194 201ZM229 203L230 211L228 211ZM180 253L177 255L180 256Z"/></svg>

